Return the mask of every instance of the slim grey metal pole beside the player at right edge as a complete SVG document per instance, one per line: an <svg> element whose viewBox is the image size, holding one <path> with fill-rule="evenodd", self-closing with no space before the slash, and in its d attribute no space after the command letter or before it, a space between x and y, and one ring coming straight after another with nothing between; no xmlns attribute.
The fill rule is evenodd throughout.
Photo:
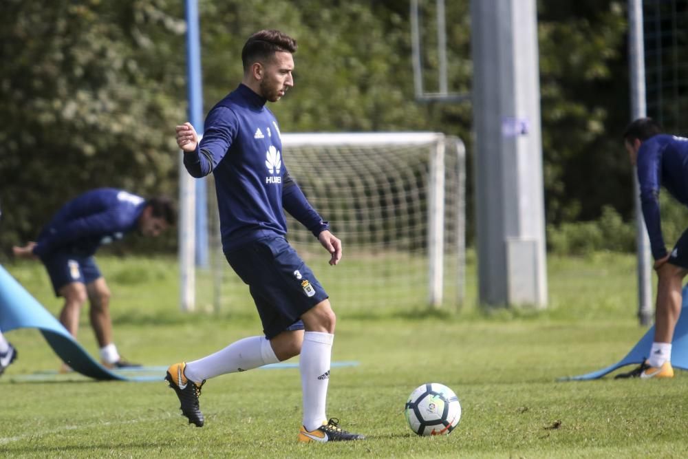
<svg viewBox="0 0 688 459"><path fill-rule="evenodd" d="M645 44L643 32L643 0L628 1L628 52L631 81L631 119L647 116L645 105ZM643 221L638 176L633 178L636 208L636 248L638 252L638 319L641 325L652 323L652 260L649 238Z"/></svg>

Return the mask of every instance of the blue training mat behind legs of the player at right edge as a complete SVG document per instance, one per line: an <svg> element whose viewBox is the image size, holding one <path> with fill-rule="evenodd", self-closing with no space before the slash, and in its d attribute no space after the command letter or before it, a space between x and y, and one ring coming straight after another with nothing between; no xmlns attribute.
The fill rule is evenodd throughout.
<svg viewBox="0 0 688 459"><path fill-rule="evenodd" d="M624 365L640 365L649 356L649 350L654 341L654 325L643 335L640 341L621 361L596 372L581 374L580 376L564 376L557 381L589 381L609 374ZM688 370L688 286L683 288L683 304L681 315L678 317L674 330L674 341L671 341L671 366Z"/></svg>

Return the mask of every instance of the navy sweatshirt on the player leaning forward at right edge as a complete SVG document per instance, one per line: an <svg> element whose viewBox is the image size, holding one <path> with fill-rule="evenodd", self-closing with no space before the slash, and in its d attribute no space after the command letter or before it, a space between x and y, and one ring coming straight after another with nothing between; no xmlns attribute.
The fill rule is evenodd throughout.
<svg viewBox="0 0 688 459"><path fill-rule="evenodd" d="M688 139L658 134L638 149L638 182L652 257L667 255L659 213L659 189L664 186L681 204L688 206Z"/></svg>

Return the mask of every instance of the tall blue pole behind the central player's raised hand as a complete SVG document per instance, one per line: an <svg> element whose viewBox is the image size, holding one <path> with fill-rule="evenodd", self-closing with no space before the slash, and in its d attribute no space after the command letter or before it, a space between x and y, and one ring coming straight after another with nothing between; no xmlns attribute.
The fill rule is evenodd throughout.
<svg viewBox="0 0 688 459"><path fill-rule="evenodd" d="M201 45L197 0L186 0L186 76L189 97L189 120L203 135L203 82L201 78ZM196 266L208 266L208 209L206 180L195 181Z"/></svg>

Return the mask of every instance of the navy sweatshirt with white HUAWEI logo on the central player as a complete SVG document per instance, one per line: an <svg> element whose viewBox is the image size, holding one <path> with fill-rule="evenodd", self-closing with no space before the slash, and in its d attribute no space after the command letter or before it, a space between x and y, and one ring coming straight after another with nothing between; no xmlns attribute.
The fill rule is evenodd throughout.
<svg viewBox="0 0 688 459"><path fill-rule="evenodd" d="M286 235L282 209L316 236L328 228L290 178L277 118L265 103L239 85L208 112L196 151L184 153L193 177L215 175L225 252L263 235Z"/></svg>

